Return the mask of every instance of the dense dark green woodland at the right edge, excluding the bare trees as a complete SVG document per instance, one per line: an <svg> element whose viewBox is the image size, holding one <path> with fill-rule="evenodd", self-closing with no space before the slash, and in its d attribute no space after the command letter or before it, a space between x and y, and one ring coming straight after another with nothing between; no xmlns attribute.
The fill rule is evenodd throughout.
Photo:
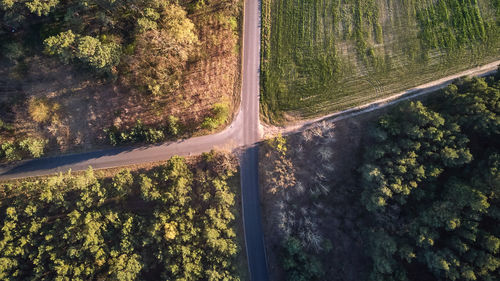
<svg viewBox="0 0 500 281"><path fill-rule="evenodd" d="M371 280L499 280L499 78L378 121L361 168Z"/></svg>

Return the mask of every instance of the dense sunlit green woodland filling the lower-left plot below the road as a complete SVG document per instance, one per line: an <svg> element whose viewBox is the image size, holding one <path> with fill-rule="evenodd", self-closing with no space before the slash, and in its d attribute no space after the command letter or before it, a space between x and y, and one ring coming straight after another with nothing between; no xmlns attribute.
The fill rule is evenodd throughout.
<svg viewBox="0 0 500 281"><path fill-rule="evenodd" d="M235 160L0 185L2 280L239 280Z"/></svg>

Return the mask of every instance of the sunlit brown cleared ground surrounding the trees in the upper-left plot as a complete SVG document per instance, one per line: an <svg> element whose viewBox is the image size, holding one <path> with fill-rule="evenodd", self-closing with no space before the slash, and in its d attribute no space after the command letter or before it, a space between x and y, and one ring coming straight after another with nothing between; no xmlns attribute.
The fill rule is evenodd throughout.
<svg viewBox="0 0 500 281"><path fill-rule="evenodd" d="M150 2L154 1L144 5ZM139 24L135 18L123 17L134 5L117 2L107 10L105 18L114 19L112 27L94 22L100 9L94 2L89 7L77 7L83 11L74 16L85 24L61 19L61 12L66 8L72 11L72 5L78 3L61 2L56 11L37 20L26 17L22 26L13 29L15 32L7 21L0 21L0 119L6 124L5 128L0 126L0 147L7 143L21 150L22 140L36 139L46 142L45 154L53 155L109 146L113 142L105 130L110 128L116 136L125 133L117 143L131 144L206 134L230 121L239 102L239 2L212 1L196 7L186 1L179 3L194 25L197 43L188 61L180 66L176 88L159 95L131 82L134 75L128 64L140 57L134 53ZM142 15L141 10L133 12L134 17ZM0 15L4 13L0 11ZM82 25L90 27L84 31L76 28ZM47 55L44 40L69 28L82 36L90 34L103 42L115 40L122 45L121 60L112 75L96 74L77 59L66 64ZM38 119L30 112L31 104L38 105L32 106L39 112ZM142 125L137 126L138 121ZM152 132L150 137L148 132ZM33 157L25 151L16 151L10 158L4 154L0 151L0 158L6 161Z"/></svg>

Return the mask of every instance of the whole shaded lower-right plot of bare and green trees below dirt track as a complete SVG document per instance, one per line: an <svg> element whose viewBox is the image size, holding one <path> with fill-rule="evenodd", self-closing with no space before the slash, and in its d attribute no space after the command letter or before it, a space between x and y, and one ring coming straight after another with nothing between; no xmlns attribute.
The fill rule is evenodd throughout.
<svg viewBox="0 0 500 281"><path fill-rule="evenodd" d="M499 280L500 75L261 146L273 280Z"/></svg>

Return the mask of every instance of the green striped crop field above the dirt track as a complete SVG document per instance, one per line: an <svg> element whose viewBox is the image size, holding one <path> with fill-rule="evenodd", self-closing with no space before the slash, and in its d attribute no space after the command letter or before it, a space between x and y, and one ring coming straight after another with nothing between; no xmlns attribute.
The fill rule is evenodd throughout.
<svg viewBox="0 0 500 281"><path fill-rule="evenodd" d="M360 105L494 61L500 0L263 0L262 115Z"/></svg>

